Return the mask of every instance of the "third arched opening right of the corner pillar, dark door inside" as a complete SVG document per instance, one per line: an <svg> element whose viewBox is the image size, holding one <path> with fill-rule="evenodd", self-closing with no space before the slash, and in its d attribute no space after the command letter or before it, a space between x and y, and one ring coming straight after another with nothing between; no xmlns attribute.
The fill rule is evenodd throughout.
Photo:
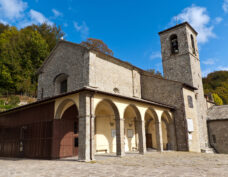
<svg viewBox="0 0 228 177"><path fill-rule="evenodd" d="M159 149L159 119L156 111L149 107L145 112L146 147Z"/></svg>

